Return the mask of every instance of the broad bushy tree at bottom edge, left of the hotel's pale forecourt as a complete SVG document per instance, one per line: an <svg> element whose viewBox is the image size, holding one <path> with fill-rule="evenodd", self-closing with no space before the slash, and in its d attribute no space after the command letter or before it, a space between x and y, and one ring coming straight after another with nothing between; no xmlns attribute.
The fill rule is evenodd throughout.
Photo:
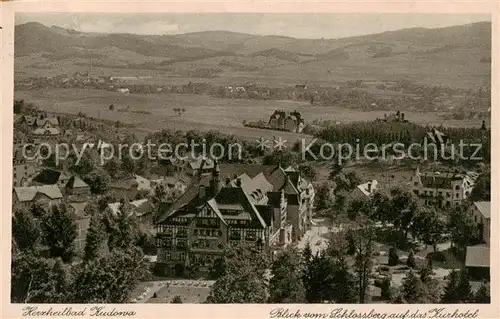
<svg viewBox="0 0 500 319"><path fill-rule="evenodd" d="M124 303L148 274L140 248L115 249L73 270L73 302Z"/></svg>

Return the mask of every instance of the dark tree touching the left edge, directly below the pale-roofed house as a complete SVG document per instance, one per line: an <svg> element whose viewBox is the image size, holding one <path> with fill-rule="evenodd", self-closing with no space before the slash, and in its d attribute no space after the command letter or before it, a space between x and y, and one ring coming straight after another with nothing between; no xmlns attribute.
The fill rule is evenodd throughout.
<svg viewBox="0 0 500 319"><path fill-rule="evenodd" d="M33 249L40 237L40 231L33 217L24 209L18 209L12 216L12 237L20 250Z"/></svg>

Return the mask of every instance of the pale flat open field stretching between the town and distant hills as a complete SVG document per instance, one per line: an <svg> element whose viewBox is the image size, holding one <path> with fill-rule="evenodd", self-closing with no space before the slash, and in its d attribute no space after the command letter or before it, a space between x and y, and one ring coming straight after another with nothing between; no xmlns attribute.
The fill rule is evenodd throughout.
<svg viewBox="0 0 500 319"><path fill-rule="evenodd" d="M107 120L118 120L133 124L138 131L153 132L164 128L176 130L218 130L234 134L243 139L261 136L272 138L282 136L290 141L297 140L301 134L276 132L244 127L243 120L257 121L269 119L276 109L301 112L306 123L316 119L349 123L353 121L372 121L382 118L384 111L363 112L339 107L311 106L297 101L258 101L242 99L220 99L207 95L189 94L130 94L90 89L44 89L36 91L16 91L15 99L32 102L49 112L76 114L83 112L88 116ZM109 105L115 106L114 111ZM184 108L186 112L175 115L174 108ZM145 111L134 113L133 111ZM479 127L479 120L443 120L439 113L405 112L405 117L421 125L444 125L460 127Z"/></svg>

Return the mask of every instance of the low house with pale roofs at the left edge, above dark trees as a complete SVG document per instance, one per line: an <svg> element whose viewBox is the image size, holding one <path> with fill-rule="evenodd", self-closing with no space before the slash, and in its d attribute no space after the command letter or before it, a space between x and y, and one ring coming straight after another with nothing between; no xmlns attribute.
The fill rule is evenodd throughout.
<svg viewBox="0 0 500 319"><path fill-rule="evenodd" d="M44 206L57 205L61 202L63 194L57 185L42 185L28 187L14 187L13 205L31 207L34 203Z"/></svg>

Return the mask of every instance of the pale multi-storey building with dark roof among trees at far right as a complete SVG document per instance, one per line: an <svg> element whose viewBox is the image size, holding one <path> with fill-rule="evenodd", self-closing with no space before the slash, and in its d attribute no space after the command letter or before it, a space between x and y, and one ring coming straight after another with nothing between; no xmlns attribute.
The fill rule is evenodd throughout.
<svg viewBox="0 0 500 319"><path fill-rule="evenodd" d="M423 205L450 207L469 197L474 187L471 174L426 172L417 167L411 187Z"/></svg>

